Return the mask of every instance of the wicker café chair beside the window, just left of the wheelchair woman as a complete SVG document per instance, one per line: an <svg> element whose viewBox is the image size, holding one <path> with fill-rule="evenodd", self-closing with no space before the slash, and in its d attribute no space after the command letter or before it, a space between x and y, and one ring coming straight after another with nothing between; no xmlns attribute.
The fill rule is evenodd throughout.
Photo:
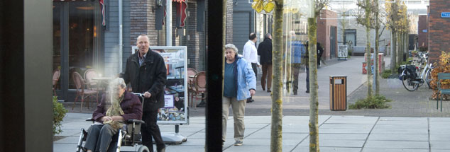
<svg viewBox="0 0 450 152"><path fill-rule="evenodd" d="M97 104L99 103L99 92L97 90L91 90L91 89L84 88L86 83L84 82L82 76L78 74L78 72L73 72L72 78L73 78L73 81L77 88L77 95L75 96L72 110L75 107L75 103L77 103L78 97L81 100L81 107L79 108L80 111L82 110L84 100L88 97L91 97L91 98L94 97ZM87 109L89 109L89 100L87 100Z"/></svg>

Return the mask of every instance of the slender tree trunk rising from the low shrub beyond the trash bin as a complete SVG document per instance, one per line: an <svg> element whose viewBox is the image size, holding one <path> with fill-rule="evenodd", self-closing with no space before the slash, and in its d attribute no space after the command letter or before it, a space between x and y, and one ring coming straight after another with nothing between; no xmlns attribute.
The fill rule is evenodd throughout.
<svg viewBox="0 0 450 152"><path fill-rule="evenodd" d="M379 40L380 40L380 35L378 35L378 31L380 30L380 21L379 21L379 19L378 19L378 11L379 11L379 8L378 8L378 0L375 0L374 1L374 3L375 3L375 9L378 9L378 10L375 10L375 52L374 52L374 54L375 54L375 58L373 59L373 62L375 62L374 63L374 65L375 65L375 95L380 95L380 81L379 81L379 72L380 71L378 71L378 66L380 66L378 63L378 49L379 49L379 46L378 45L380 45L380 42L378 42ZM383 63L381 63L381 64L383 64Z"/></svg>

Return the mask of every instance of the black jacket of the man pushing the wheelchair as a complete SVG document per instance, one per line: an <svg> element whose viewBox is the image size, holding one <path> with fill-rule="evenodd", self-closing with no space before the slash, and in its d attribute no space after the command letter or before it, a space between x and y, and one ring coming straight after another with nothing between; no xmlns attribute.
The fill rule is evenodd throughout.
<svg viewBox="0 0 450 152"><path fill-rule="evenodd" d="M123 78L125 83L131 83L134 93L151 93L150 98L146 98L143 111L158 110L164 107L164 87L167 78L164 59L160 54L148 50L146 59L139 66L138 52L126 59L126 67ZM152 106L156 103L156 106Z"/></svg>

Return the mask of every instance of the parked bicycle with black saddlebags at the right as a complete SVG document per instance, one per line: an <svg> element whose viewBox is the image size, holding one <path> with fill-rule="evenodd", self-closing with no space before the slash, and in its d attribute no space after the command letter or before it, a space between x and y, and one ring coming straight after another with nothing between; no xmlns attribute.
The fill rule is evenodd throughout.
<svg viewBox="0 0 450 152"><path fill-rule="evenodd" d="M398 69L399 79L406 90L409 91L417 90L424 82L431 88L432 64L428 63L428 53L418 54L418 56L419 60L412 60L410 61L412 64L402 65ZM422 68L423 65L424 67Z"/></svg>

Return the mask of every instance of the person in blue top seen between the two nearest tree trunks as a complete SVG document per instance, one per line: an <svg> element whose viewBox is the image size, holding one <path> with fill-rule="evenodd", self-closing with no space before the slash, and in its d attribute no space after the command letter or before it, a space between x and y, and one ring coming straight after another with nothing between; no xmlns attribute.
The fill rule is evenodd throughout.
<svg viewBox="0 0 450 152"><path fill-rule="evenodd" d="M306 49L304 48L304 45L302 42L297 40L297 37L295 35L295 31L290 31L291 36L291 42L290 42L290 48L291 48L291 71L293 74L293 81L292 81L292 93L294 95L297 95L298 90L298 76L300 74L300 66L302 64L302 55L306 52Z"/></svg>

